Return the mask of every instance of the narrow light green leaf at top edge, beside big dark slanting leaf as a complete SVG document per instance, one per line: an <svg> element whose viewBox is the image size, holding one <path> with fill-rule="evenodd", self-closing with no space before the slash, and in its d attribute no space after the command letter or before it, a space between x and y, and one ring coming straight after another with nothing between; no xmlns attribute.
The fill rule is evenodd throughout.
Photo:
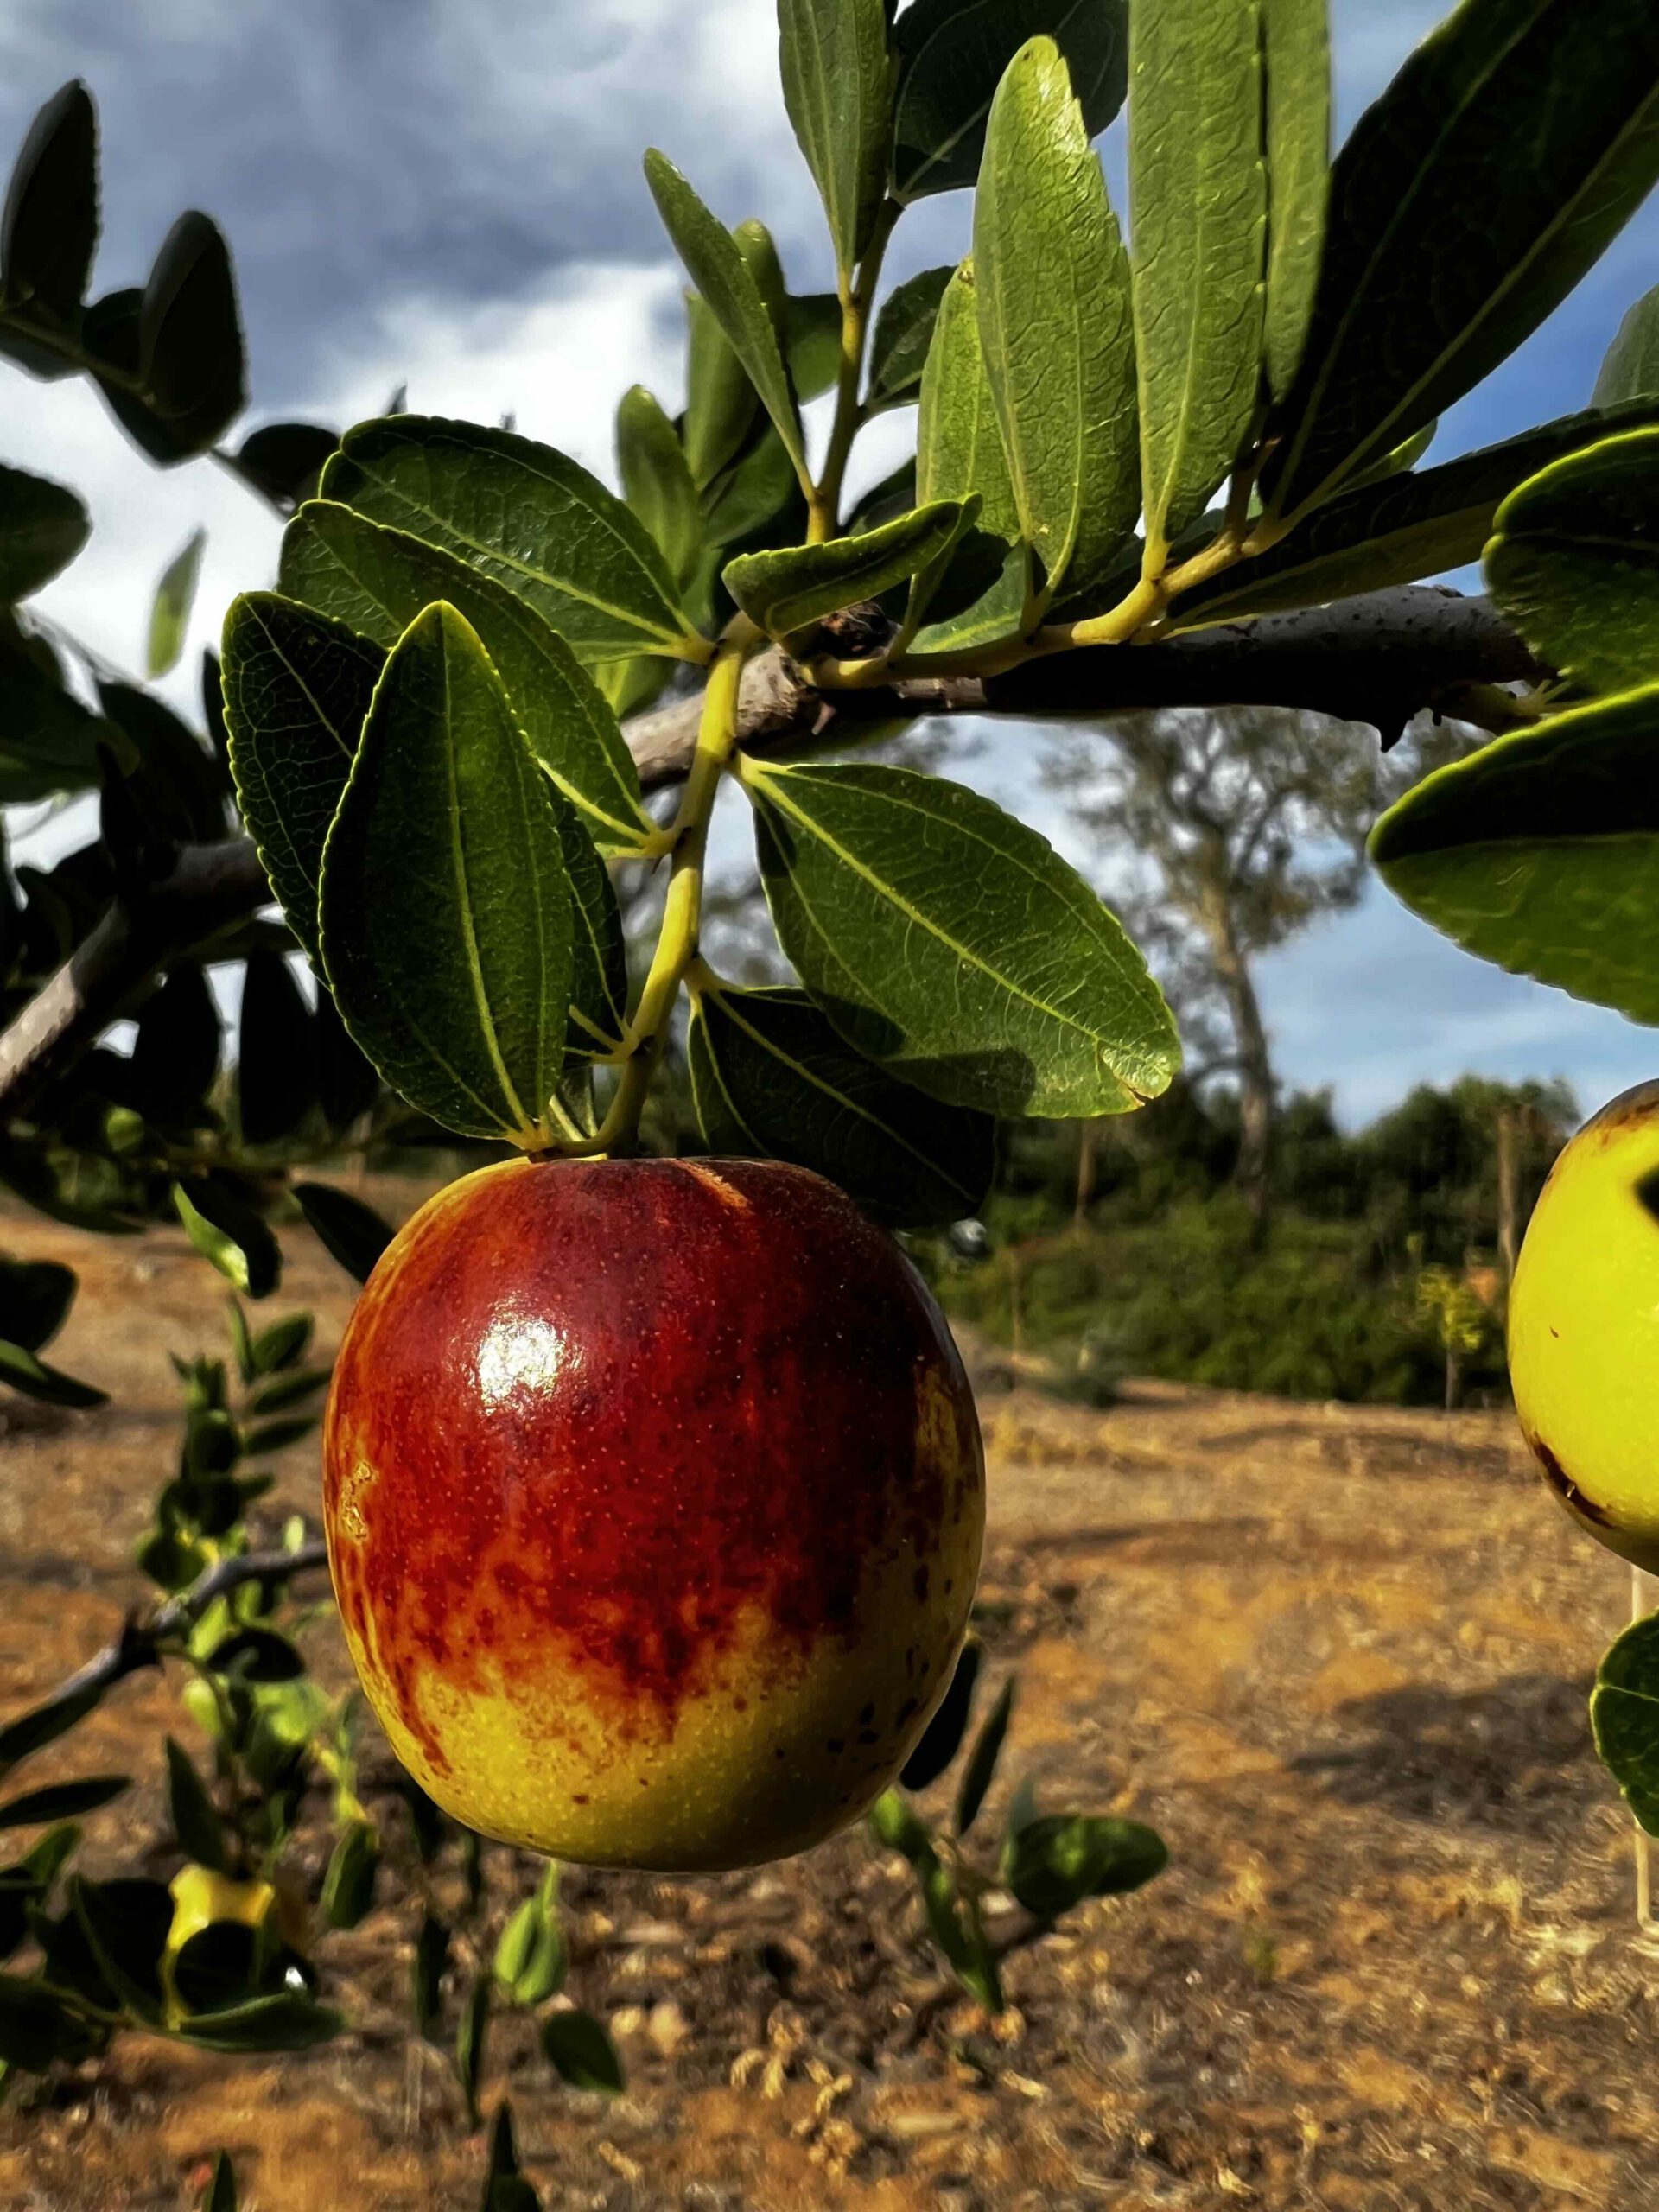
<svg viewBox="0 0 1659 2212"><path fill-rule="evenodd" d="M1332 157L1329 0L1261 0L1267 137L1267 301L1263 358L1290 392L1314 316Z"/></svg>

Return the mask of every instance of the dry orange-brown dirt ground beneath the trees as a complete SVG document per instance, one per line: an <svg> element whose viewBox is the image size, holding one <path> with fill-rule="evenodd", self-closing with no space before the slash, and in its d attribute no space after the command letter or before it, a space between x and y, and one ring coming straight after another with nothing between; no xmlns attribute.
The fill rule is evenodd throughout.
<svg viewBox="0 0 1659 2212"><path fill-rule="evenodd" d="M7 1400L0 1714L102 1641L175 1449L166 1349L212 1345L217 1281L177 1237L4 1223L82 1267L58 1354L100 1413ZM343 1276L290 1237L272 1303ZM993 1812L1157 1823L1168 1876L1009 1962L1013 2011L929 2002L907 1878L860 1834L728 1880L571 1878L575 1997L628 2062L617 2101L560 2090L509 2020L493 2081L549 2208L1652 2205L1659 1960L1630 1922L1626 1820L1584 1692L1617 1566L1557 1517L1506 1418L1144 1387L1093 1413L987 1391L982 1632L1020 1703ZM316 1504L314 1447L283 1506ZM343 1679L332 1628L314 1663ZM168 1874L157 1677L31 1781L126 1765L95 1871ZM312 1851L312 1871L316 1869ZM491 1860L495 1922L529 1885ZM495 1924L491 1922L491 1924ZM0 2112L0 2203L161 2212L228 2146L254 2212L478 2201L440 2053L407 2033L411 1916L325 1938L352 2033L217 2059L131 2037Z"/></svg>

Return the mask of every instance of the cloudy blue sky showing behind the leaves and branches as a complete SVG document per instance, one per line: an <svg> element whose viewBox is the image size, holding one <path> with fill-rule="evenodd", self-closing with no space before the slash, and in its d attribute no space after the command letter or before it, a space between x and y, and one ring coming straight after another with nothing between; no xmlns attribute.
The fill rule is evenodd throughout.
<svg viewBox="0 0 1659 2212"><path fill-rule="evenodd" d="M1429 0L1334 0L1338 128L1438 20ZM100 288L137 281L173 215L232 241L250 425L349 422L407 378L411 407L493 420L608 471L635 380L679 400L679 276L639 175L661 144L723 217L763 215L794 283L827 281L821 217L783 117L772 0L0 0L0 150L69 75L104 131ZM1119 177L1117 135L1106 166ZM1117 192L1121 204L1121 188ZM964 195L900 226L891 272L953 259ZM1436 458L1586 405L1619 316L1659 283L1659 201L1575 299L1442 422ZM197 524L208 644L270 582L276 526L212 465L148 469L82 385L0 369L0 458L77 484L95 538L42 604L137 666L148 588ZM872 438L874 478L907 418ZM186 692L181 690L181 697ZM1068 843L1000 730L964 774ZM741 832L726 825L728 849ZM66 825L35 832L62 847ZM1464 1068L1564 1075L1586 1108L1655 1071L1652 1040L1469 960L1374 889L1263 962L1279 1064L1365 1119Z"/></svg>

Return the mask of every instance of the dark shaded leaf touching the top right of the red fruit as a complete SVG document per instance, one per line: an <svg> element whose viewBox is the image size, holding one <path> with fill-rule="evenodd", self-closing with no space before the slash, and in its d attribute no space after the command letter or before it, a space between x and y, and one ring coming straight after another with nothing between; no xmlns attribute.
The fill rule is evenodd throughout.
<svg viewBox="0 0 1659 2212"><path fill-rule="evenodd" d="M940 1106L847 1051L805 991L706 975L686 1057L712 1152L812 1168L909 1230L962 1221L991 1188L991 1117Z"/></svg>

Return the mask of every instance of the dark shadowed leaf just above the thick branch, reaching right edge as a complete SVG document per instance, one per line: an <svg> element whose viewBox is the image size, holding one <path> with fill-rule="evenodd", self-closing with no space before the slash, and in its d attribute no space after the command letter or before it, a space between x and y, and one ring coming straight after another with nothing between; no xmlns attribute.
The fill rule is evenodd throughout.
<svg viewBox="0 0 1659 2212"><path fill-rule="evenodd" d="M1575 453L1619 420L1652 416L1652 403L1621 416L1564 416L1504 445L1482 447L1438 469L1383 476L1316 507L1267 553L1183 593L1179 630L1241 615L1325 606L1360 591L1387 591L1480 560L1504 498L1537 469ZM1194 617L1201 615L1203 624Z"/></svg>

